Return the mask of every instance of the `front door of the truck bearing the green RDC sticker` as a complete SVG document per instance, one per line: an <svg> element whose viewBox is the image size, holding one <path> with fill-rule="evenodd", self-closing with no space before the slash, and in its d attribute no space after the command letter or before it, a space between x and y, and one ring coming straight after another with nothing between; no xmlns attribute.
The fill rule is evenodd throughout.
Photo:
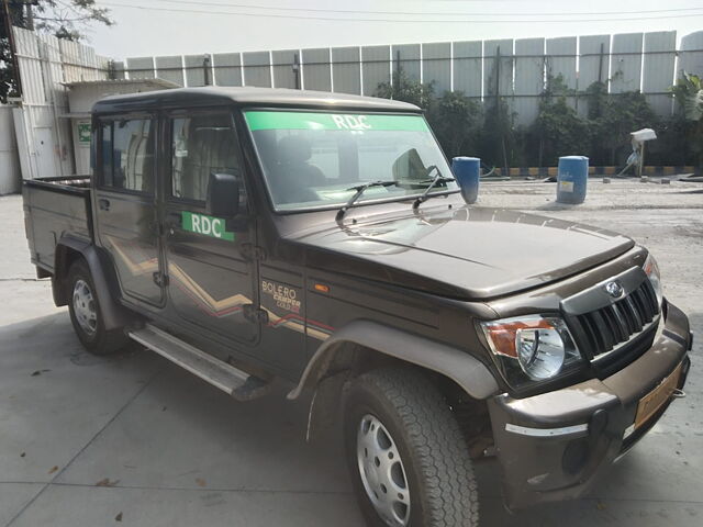
<svg viewBox="0 0 703 527"><path fill-rule="evenodd" d="M207 333L254 344L259 324L245 314L256 304L256 261L247 257L255 226L227 225L205 209L210 173L230 173L241 179L241 193L232 199L239 200L242 214L248 210L232 114L171 113L164 124L170 145L164 221L170 307L178 319Z"/></svg>

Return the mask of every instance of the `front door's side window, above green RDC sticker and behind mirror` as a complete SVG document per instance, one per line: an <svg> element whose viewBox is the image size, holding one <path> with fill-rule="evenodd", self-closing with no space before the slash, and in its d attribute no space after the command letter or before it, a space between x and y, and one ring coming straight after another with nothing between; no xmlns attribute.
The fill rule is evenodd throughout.
<svg viewBox="0 0 703 527"><path fill-rule="evenodd" d="M241 176L236 136L230 114L171 120L171 195L204 202L210 173ZM239 200L244 197L241 186Z"/></svg>

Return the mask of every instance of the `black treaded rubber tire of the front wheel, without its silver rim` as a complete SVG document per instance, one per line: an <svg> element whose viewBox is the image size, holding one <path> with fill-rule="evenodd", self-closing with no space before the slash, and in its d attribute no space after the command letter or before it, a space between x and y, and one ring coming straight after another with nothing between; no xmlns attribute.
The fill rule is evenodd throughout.
<svg viewBox="0 0 703 527"><path fill-rule="evenodd" d="M402 459L410 495L404 524L384 520L365 489L359 458L365 449L357 457L357 434L368 415L390 433ZM352 381L345 395L344 436L355 493L369 526L478 525L478 491L466 441L446 400L422 371L381 369Z"/></svg>

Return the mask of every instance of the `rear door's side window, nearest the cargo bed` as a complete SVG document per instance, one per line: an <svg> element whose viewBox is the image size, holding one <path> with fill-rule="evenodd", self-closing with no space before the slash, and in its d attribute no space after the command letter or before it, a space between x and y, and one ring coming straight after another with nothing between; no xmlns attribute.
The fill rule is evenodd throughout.
<svg viewBox="0 0 703 527"><path fill-rule="evenodd" d="M102 184L136 192L154 192L154 133L149 119L103 123Z"/></svg>

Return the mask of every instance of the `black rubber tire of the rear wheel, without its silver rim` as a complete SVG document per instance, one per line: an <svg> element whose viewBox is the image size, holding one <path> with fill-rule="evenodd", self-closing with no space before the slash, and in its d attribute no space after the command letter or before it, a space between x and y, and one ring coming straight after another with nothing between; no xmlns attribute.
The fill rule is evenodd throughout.
<svg viewBox="0 0 703 527"><path fill-rule="evenodd" d="M93 303L92 309L96 312L94 329L92 332L86 330L79 322L79 314L77 314L77 306L75 302L75 289L78 282L85 284L90 294L92 295ZM100 311L100 302L96 293L96 285L90 274L90 269L85 260L76 260L68 270L68 280L66 281L66 292L68 298L68 312L70 314L70 322L74 325L74 330L78 336L78 339L83 347L93 355L108 355L119 351L131 344L129 337L122 329L113 329L111 332L105 330L102 319L102 313Z"/></svg>

